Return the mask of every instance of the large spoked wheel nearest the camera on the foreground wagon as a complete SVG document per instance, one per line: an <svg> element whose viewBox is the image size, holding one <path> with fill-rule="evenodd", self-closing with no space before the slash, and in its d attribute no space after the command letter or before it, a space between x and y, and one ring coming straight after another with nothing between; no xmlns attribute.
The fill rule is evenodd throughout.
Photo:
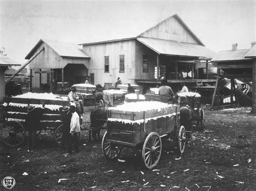
<svg viewBox="0 0 256 191"><path fill-rule="evenodd" d="M161 156L161 148L162 142L158 133L152 132L147 135L142 149L142 159L147 168L151 169L157 165Z"/></svg>

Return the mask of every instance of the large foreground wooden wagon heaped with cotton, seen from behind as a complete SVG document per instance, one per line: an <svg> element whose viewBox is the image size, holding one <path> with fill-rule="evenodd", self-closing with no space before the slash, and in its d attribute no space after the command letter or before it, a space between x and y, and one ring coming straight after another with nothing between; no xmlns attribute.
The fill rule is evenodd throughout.
<svg viewBox="0 0 256 191"><path fill-rule="evenodd" d="M185 127L180 126L180 106L168 104L168 99L160 95L145 96L147 100L158 101L127 103L107 111L107 130L102 139L106 159L117 159L123 147L142 148L143 163L151 169L160 159L161 139L173 140L168 142L174 142L178 151L184 152L186 136ZM149 108L129 109L140 105Z"/></svg>

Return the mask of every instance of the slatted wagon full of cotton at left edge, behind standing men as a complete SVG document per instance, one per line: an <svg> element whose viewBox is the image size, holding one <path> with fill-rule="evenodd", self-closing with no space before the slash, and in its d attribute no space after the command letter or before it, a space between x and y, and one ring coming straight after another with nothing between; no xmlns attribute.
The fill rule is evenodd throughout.
<svg viewBox="0 0 256 191"><path fill-rule="evenodd" d="M55 135L57 144L62 142L62 108L70 106L70 102L66 99L35 99L35 98L20 98L20 97L4 97L2 105L3 127L0 129L0 139L7 146L15 147L23 143L25 139L25 116L28 113L29 105L35 107L43 107L44 113L41 117L43 128L37 131L39 134L42 130L50 130L51 134Z"/></svg>

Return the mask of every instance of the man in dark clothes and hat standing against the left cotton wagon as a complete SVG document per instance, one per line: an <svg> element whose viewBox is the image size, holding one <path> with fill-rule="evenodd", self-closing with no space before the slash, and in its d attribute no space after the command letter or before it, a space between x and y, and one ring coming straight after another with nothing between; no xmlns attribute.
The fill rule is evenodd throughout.
<svg viewBox="0 0 256 191"><path fill-rule="evenodd" d="M42 125L40 122L41 116L44 113L43 108L28 106L28 114L25 117L26 136L28 137L28 151L34 149L36 146L36 131L41 130Z"/></svg>

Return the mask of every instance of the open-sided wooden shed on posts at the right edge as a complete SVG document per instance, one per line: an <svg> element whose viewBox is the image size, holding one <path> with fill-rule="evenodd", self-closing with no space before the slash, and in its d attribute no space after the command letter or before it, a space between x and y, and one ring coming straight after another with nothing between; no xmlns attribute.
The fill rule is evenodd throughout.
<svg viewBox="0 0 256 191"><path fill-rule="evenodd" d="M237 91L235 90L234 79L244 79L245 82L252 81L252 112L256 112L256 42L251 43L251 49L238 50L238 44L232 44L232 49L220 51L217 56L212 59L213 63L217 63L218 76L220 78L231 79L231 100L230 105L239 105ZM218 79L220 79L218 78ZM221 107L219 88L219 80L217 80L215 91L212 99L212 108ZM246 100L246 97L243 101ZM251 104L251 103L250 103ZM225 105L224 105L225 106Z"/></svg>

